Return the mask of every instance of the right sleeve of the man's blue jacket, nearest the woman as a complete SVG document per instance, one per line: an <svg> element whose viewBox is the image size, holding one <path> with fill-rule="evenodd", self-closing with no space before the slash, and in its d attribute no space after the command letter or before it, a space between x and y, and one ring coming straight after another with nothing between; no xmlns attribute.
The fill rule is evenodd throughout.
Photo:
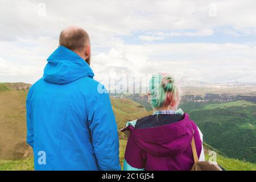
<svg viewBox="0 0 256 182"><path fill-rule="evenodd" d="M89 129L94 154L102 171L121 170L117 123L110 104L109 94L100 93L88 107Z"/></svg>

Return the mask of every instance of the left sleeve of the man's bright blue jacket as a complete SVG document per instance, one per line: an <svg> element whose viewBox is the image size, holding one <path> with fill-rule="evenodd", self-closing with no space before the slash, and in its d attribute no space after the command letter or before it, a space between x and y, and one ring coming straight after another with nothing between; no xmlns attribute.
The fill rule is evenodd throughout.
<svg viewBox="0 0 256 182"><path fill-rule="evenodd" d="M29 90L26 100L26 109L27 109L27 143L34 148L34 129L31 121L31 108L30 108L30 99L31 99L32 89Z"/></svg>

